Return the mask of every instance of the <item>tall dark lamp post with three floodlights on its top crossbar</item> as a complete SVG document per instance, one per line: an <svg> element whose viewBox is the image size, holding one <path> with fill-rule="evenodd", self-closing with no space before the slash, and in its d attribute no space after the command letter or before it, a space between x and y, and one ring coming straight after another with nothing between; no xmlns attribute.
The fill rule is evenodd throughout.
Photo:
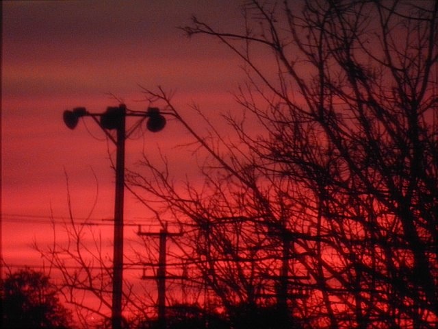
<svg viewBox="0 0 438 329"><path fill-rule="evenodd" d="M123 295L123 199L125 191L125 140L129 136L126 131L126 117L148 118L146 127L151 132L159 132L166 125L166 119L158 108L148 108L146 112L127 111L125 104L108 107L103 113L90 113L86 108L66 110L64 123L75 129L79 118L92 117L103 132L116 145L116 194L114 199L114 249L112 278L112 328L122 328L122 295ZM100 118L100 120L98 119ZM116 130L116 139L110 134Z"/></svg>

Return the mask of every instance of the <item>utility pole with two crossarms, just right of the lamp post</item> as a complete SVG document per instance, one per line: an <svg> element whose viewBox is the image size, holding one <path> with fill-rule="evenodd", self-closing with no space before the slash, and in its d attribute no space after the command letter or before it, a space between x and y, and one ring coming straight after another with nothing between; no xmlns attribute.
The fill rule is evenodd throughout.
<svg viewBox="0 0 438 329"><path fill-rule="evenodd" d="M166 241L168 236L181 236L182 233L170 233L167 230L167 223L164 228L159 230L159 233L141 232L138 228L137 234L139 236L159 236L159 256L158 256L158 270L157 276L142 276L142 279L157 279L158 297L158 328L166 328L166 278L180 278L179 276L167 276L166 274Z"/></svg>

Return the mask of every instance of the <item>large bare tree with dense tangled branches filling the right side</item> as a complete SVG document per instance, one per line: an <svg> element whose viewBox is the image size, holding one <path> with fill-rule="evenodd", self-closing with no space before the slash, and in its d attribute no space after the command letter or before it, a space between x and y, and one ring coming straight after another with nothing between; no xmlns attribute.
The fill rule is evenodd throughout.
<svg viewBox="0 0 438 329"><path fill-rule="evenodd" d="M149 173L131 172L131 186L192 228L183 257L231 319L242 305L274 305L311 328L433 328L438 3L242 10L243 33L196 17L184 27L244 62L242 116L224 113L237 138L208 121L210 135L196 134L164 90L144 90L207 151L205 184L180 186L144 160Z"/></svg>

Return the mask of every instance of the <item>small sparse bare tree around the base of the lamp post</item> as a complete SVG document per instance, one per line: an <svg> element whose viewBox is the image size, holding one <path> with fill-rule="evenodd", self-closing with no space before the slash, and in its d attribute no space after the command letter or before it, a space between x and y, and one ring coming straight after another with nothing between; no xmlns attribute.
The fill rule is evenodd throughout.
<svg viewBox="0 0 438 329"><path fill-rule="evenodd" d="M94 176L94 178L96 178ZM53 221L53 244L34 245L40 252L49 273L60 277L58 289L70 308L75 310L75 319L83 328L110 328L112 308L112 256L110 241L102 236L102 223L90 219L94 207L86 219L77 219L73 214L70 190L67 184L68 220L60 225ZM96 180L96 199L99 184ZM61 228L60 228L61 226ZM131 266L130 266L131 265ZM133 264L125 262L128 270ZM140 269L136 270L140 276ZM149 318L153 300L144 287L134 287L129 278L123 289L124 326L135 326Z"/></svg>

